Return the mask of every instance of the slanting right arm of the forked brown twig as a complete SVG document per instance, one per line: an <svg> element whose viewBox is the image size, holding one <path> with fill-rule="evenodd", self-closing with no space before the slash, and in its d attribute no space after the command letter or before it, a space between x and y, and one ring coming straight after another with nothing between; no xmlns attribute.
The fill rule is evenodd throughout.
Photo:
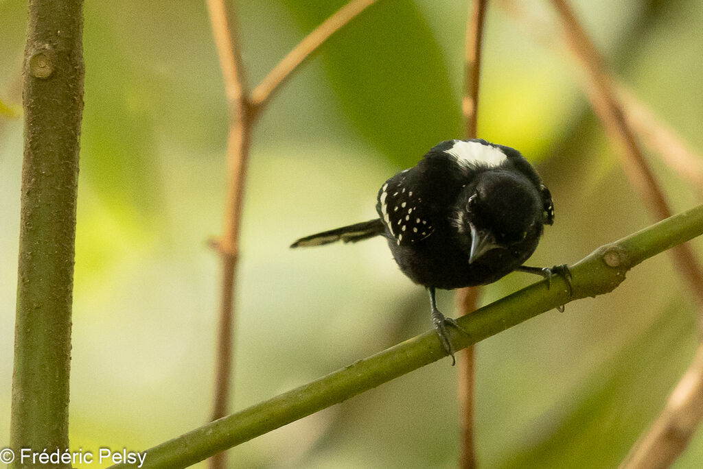
<svg viewBox="0 0 703 469"><path fill-rule="evenodd" d="M285 83L290 78L293 72L297 70L310 55L316 51L323 42L327 41L335 32L339 31L354 20L359 13L366 10L369 6L375 4L378 0L352 0L348 4L342 6L330 18L327 18L321 25L316 27L313 32L308 34L302 41L293 48L283 60L278 62L276 67L269 72L262 82L252 91L251 103L254 110L259 112L262 110L274 93L280 88L280 85Z"/></svg>

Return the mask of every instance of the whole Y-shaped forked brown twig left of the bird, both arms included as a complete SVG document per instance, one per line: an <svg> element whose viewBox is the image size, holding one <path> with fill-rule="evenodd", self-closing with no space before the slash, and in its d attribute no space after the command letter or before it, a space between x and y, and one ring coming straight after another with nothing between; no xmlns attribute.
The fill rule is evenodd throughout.
<svg viewBox="0 0 703 469"><path fill-rule="evenodd" d="M311 53L375 1L378 0L352 0L340 8L337 13L325 20L286 55L264 78L262 83L254 88L250 97L247 92L233 6L231 2L226 0L207 0L230 111L227 140L228 181L223 235L217 242L210 243L217 247L222 258L222 290L212 420L217 420L227 414L228 403L232 399L235 275L239 258L244 185L254 119L269 103L273 93ZM224 454L218 454L211 458L210 467L213 469L224 468Z"/></svg>

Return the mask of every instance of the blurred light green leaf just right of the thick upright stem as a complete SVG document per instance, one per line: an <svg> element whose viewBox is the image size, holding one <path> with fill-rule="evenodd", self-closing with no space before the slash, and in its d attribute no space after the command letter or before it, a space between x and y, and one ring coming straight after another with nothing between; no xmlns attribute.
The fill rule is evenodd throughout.
<svg viewBox="0 0 703 469"><path fill-rule="evenodd" d="M94 7L93 7L94 8ZM160 202L155 164L153 77L117 46L118 34L99 12L86 9L86 62L81 171L108 206L147 216Z"/></svg>

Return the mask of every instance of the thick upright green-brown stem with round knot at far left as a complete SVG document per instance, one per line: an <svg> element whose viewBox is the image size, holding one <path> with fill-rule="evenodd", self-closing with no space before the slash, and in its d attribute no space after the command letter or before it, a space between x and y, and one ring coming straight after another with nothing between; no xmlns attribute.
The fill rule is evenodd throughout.
<svg viewBox="0 0 703 469"><path fill-rule="evenodd" d="M34 467L20 460L22 448L68 447L82 34L82 0L30 1L10 436L15 468Z"/></svg>

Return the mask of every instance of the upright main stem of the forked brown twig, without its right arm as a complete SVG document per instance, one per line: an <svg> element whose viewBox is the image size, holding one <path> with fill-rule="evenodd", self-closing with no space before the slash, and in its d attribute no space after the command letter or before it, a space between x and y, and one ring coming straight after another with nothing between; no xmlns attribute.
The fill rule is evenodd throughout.
<svg viewBox="0 0 703 469"><path fill-rule="evenodd" d="M217 420L227 414L228 404L231 401L234 278L239 256L239 233L252 122L249 112L250 105L247 100L242 53L236 29L236 16L233 12L232 2L208 0L207 6L230 110L230 126L227 140L227 198L223 235L218 244L222 258L222 290L217 369L215 371L215 390L212 407L212 420ZM210 467L213 469L221 469L225 466L224 453L217 454L210 460Z"/></svg>

